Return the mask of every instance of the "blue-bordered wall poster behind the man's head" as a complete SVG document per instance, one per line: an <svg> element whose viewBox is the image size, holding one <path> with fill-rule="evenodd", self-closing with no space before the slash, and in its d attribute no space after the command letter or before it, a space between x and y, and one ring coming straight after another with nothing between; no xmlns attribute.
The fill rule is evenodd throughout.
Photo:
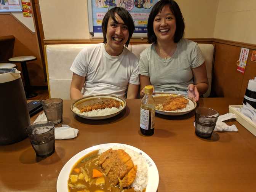
<svg viewBox="0 0 256 192"><path fill-rule="evenodd" d="M93 38L102 38L101 23L106 12L115 7L123 7L133 17L135 30L133 38L147 37L147 19L152 6L158 0L88 0L89 31Z"/></svg>

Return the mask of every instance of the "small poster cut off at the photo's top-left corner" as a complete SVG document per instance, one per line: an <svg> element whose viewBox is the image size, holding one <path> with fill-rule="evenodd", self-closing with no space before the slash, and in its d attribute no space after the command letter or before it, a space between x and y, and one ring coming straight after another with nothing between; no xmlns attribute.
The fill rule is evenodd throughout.
<svg viewBox="0 0 256 192"><path fill-rule="evenodd" d="M22 5L20 0L0 0L0 12L16 11L22 11Z"/></svg>

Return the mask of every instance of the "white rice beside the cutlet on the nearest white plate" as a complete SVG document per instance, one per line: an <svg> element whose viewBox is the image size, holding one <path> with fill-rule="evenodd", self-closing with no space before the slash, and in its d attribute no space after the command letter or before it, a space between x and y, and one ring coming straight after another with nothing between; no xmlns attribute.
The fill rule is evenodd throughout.
<svg viewBox="0 0 256 192"><path fill-rule="evenodd" d="M109 147L107 149L100 149L99 154L102 154L104 151L108 149L123 149L126 153L128 153L131 157L131 160L133 160L133 164L137 165L137 173L136 178L133 181L133 184L131 184L131 187L134 188L135 191L141 191L147 187L147 163L146 158L143 157L142 154L139 154L138 152L135 152L132 149L129 149L125 146L113 146Z"/></svg>

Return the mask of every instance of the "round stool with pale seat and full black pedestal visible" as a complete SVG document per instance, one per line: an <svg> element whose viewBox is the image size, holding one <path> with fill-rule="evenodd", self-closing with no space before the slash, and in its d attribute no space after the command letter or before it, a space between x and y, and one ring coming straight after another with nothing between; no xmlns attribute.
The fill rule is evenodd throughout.
<svg viewBox="0 0 256 192"><path fill-rule="evenodd" d="M21 63L22 73L25 80L25 93L27 98L33 98L37 96L37 93L35 93L30 86L29 72L27 71L27 61L35 61L35 60L37 60L37 58L34 56L19 56L19 57L8 59L8 61L11 61L11 62Z"/></svg>

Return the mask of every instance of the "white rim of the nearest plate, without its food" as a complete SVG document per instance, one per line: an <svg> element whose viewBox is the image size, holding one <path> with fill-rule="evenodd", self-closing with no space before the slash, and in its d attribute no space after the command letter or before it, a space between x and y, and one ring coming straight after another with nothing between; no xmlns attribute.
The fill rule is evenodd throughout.
<svg viewBox="0 0 256 192"><path fill-rule="evenodd" d="M61 172L59 173L58 180L57 180L57 192L68 192L67 181L69 179L69 173L72 167L80 158L82 158L83 156L85 156L86 154L94 150L107 149L114 146L125 146L138 153L141 153L143 157L146 158L147 176L148 176L146 192L156 192L158 187L158 182L159 182L159 174L158 174L158 170L157 170L157 166L155 165L155 162L149 157L149 155L147 155L142 150L130 145L120 144L120 143L107 143L107 144L93 146L85 150L82 150L81 152L79 152L78 154L70 158L70 160L63 166Z"/></svg>

